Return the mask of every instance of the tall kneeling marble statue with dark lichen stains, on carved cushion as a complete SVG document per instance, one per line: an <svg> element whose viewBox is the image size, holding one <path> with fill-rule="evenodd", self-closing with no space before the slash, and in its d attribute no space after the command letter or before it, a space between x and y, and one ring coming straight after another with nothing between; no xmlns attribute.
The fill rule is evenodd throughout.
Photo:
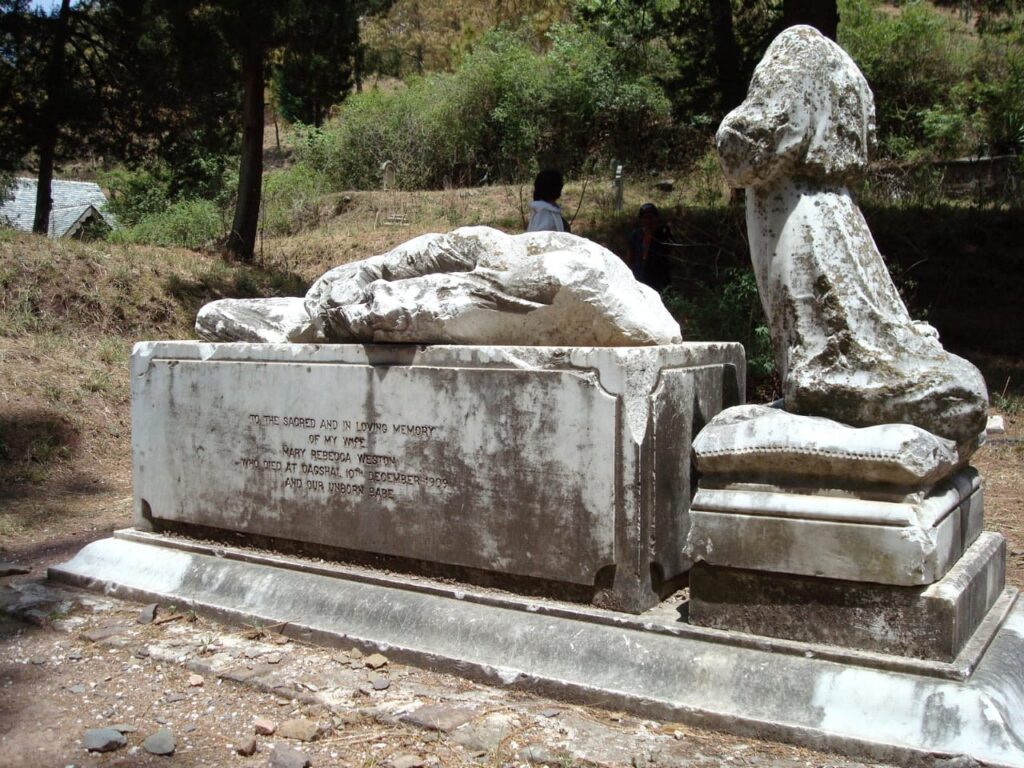
<svg viewBox="0 0 1024 768"><path fill-rule="evenodd" d="M768 48L717 135L746 225L785 409L853 426L909 423L961 446L985 429L978 370L910 318L846 184L873 141L870 89L810 27Z"/></svg>

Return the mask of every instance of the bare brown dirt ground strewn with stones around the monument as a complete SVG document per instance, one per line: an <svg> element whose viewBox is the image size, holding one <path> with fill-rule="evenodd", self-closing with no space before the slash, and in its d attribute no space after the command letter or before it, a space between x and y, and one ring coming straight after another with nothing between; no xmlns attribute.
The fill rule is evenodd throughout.
<svg viewBox="0 0 1024 768"><path fill-rule="evenodd" d="M989 529L1008 539L1008 582L1024 586L1024 418L1006 417L974 464ZM658 723L488 688L386 660L304 645L259 628L220 626L45 582L45 568L130 524L130 484L97 456L76 477L0 498L0 768L6 766L856 766L784 744ZM85 478L85 480L83 480ZM169 620L169 621L168 621ZM379 659L378 659L379 660ZM417 708L436 708L421 722ZM275 726L256 735L255 723ZM286 726L287 721L293 721ZM453 725L457 723L457 725ZM90 728L124 728L111 753L83 746ZM450 727L451 726L451 727ZM144 740L160 728L171 757ZM281 729L314 740L285 737ZM308 732L303 733L303 728ZM311 735L312 734L312 735ZM251 757L238 748L251 738ZM301 765L301 761L297 763Z"/></svg>

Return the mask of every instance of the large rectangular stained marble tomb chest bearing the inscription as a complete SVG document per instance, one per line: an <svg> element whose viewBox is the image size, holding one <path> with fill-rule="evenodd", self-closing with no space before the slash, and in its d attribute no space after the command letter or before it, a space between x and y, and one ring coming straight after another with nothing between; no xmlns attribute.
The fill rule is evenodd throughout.
<svg viewBox="0 0 1024 768"><path fill-rule="evenodd" d="M144 342L132 387L136 527L639 611L690 566L690 439L743 356Z"/></svg>

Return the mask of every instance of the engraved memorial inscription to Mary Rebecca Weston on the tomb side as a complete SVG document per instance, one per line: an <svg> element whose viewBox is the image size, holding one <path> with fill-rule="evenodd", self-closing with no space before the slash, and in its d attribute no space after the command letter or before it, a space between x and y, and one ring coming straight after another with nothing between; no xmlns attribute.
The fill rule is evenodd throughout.
<svg viewBox="0 0 1024 768"><path fill-rule="evenodd" d="M387 501L402 493L454 489L441 473L403 466L411 443L441 436L437 424L295 414L249 414L248 422L268 447L265 455L240 457L236 466L263 473L289 493Z"/></svg>

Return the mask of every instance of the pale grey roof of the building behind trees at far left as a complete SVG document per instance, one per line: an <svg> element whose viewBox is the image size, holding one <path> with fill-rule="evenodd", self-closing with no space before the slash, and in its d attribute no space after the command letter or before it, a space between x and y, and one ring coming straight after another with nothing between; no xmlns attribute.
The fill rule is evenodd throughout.
<svg viewBox="0 0 1024 768"><path fill-rule="evenodd" d="M15 229L32 231L36 217L36 189L38 181L33 178L17 178L14 197L0 205L0 218L6 219ZM114 216L105 212L106 196L99 184L92 181L57 181L50 185L53 210L50 211L49 236L65 238L74 236L90 218L101 217L110 226L116 226Z"/></svg>

